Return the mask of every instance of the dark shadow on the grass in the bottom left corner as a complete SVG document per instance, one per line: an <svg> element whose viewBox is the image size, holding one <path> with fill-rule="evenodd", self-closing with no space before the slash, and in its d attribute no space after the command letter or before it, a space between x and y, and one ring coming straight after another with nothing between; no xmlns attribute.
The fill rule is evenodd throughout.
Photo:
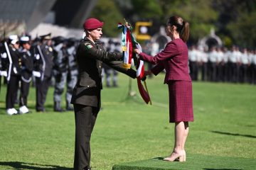
<svg viewBox="0 0 256 170"><path fill-rule="evenodd" d="M46 164L31 164L26 162L0 162L0 166L11 166L13 169L34 169L34 170L43 170L43 169L60 169L60 170L71 170L73 168L67 168L56 165L46 165Z"/></svg>

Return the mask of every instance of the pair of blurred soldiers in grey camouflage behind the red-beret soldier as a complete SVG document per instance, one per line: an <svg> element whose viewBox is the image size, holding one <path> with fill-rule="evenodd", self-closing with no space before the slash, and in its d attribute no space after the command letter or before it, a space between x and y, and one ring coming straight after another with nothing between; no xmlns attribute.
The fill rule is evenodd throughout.
<svg viewBox="0 0 256 170"><path fill-rule="evenodd" d="M75 60L76 46L78 41L75 38L65 39L63 37L53 38L55 42L53 47L54 52L54 67L53 77L55 78L55 88L53 94L54 111L73 111L70 101L73 88L77 82L78 67ZM61 96L66 86L65 94L65 110L60 106Z"/></svg>

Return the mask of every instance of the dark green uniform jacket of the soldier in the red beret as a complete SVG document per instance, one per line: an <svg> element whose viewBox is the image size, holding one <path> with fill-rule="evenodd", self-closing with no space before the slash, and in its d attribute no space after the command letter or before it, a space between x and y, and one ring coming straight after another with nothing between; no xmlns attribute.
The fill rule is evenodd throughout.
<svg viewBox="0 0 256 170"><path fill-rule="evenodd" d="M136 72L124 69L122 62L117 59L122 59L122 53L106 52L100 42L93 43L88 38L82 40L77 50L78 82L73 90L71 103L100 108L102 62L136 78Z"/></svg>

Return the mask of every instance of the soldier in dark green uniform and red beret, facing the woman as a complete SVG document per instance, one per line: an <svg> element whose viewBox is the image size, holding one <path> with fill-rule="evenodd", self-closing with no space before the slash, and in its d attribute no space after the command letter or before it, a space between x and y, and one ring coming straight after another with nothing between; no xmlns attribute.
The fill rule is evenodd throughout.
<svg viewBox="0 0 256 170"><path fill-rule="evenodd" d="M102 62L119 72L136 78L133 69L122 67L122 53L107 52L100 43L103 22L89 18L84 23L86 36L77 50L78 81L71 103L75 111L74 169L90 169L90 137L100 111Z"/></svg>

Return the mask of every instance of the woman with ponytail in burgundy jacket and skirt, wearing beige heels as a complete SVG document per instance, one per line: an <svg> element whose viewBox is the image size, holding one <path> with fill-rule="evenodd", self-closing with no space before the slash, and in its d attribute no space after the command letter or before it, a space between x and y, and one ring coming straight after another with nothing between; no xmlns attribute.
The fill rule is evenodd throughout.
<svg viewBox="0 0 256 170"><path fill-rule="evenodd" d="M166 35L171 37L164 50L154 57L134 50L139 59L156 66L145 72L146 75L159 74L166 69L164 84L169 86L169 122L175 123L174 150L165 161L186 161L184 145L188 136L188 122L193 121L192 83L188 74L189 25L181 17L172 16L167 21Z"/></svg>

